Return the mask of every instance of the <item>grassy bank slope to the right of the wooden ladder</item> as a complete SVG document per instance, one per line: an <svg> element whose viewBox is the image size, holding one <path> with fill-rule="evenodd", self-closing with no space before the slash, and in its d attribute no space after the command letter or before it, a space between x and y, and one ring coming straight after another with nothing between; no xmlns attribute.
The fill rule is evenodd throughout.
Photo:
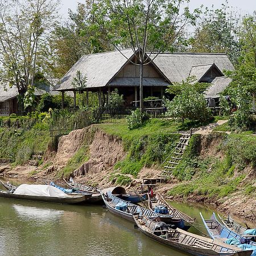
<svg viewBox="0 0 256 256"><path fill-rule="evenodd" d="M193 135L194 137L195 135ZM243 169L247 166L256 166L256 137L251 132L230 135L219 135L222 139L216 150L219 150L224 159L214 156L202 158L192 154L193 148L200 143L192 137L191 148L186 150L187 157L181 160L174 175L182 184L176 185L169 191L171 196L188 197L198 195L207 198L220 199L236 192L243 187L243 179L246 175ZM234 177L234 171L236 177ZM184 183L185 181L185 183ZM256 191L256 187L247 185L244 188L246 195L251 195Z"/></svg>

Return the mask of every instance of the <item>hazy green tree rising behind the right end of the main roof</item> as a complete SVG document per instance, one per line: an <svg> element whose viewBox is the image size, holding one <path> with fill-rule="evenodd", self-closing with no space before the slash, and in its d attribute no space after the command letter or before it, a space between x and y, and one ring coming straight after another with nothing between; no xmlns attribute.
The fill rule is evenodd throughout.
<svg viewBox="0 0 256 256"><path fill-rule="evenodd" d="M190 39L193 52L226 53L233 64L240 56L240 15L230 10L228 2L220 9L205 9L197 23L195 35Z"/></svg>

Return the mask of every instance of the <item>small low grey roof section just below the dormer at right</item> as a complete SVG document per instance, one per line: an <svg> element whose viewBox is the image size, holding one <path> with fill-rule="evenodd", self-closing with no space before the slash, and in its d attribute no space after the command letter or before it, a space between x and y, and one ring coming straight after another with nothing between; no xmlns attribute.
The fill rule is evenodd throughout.
<svg viewBox="0 0 256 256"><path fill-rule="evenodd" d="M216 77L211 86L205 90L205 98L219 98L220 93L223 92L232 80L229 77Z"/></svg>

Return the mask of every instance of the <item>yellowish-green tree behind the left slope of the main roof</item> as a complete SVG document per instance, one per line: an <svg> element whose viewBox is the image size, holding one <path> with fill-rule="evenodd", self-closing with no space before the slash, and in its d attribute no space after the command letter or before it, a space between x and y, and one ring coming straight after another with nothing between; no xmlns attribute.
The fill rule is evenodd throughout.
<svg viewBox="0 0 256 256"><path fill-rule="evenodd" d="M110 49L100 31L94 27L92 14L94 1L79 3L76 11L69 10L68 20L56 24L44 48L48 56L47 67L56 77L62 77L82 55Z"/></svg>

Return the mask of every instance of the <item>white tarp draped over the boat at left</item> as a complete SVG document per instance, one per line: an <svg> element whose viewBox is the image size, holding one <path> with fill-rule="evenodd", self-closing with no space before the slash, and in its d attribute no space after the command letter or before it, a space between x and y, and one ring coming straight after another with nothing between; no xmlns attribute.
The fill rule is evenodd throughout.
<svg viewBox="0 0 256 256"><path fill-rule="evenodd" d="M15 195L68 197L63 191L51 185L22 184L14 191Z"/></svg>

